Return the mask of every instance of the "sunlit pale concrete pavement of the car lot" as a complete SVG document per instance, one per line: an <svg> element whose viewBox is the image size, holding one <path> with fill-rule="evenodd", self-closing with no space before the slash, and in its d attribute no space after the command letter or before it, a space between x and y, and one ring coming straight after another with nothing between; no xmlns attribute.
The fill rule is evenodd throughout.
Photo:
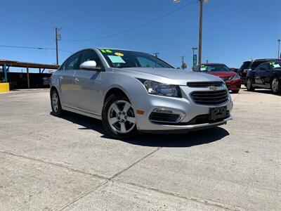
<svg viewBox="0 0 281 211"><path fill-rule="evenodd" d="M232 97L225 126L117 141L48 89L0 94L0 210L280 210L281 96Z"/></svg>

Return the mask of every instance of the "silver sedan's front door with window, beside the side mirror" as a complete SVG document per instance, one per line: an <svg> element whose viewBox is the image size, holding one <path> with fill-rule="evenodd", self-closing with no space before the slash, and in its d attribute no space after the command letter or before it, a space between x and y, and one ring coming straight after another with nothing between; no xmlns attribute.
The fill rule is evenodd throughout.
<svg viewBox="0 0 281 211"><path fill-rule="evenodd" d="M98 53L93 49L83 51L80 64L87 60L95 60L97 67L100 70L77 70L74 73L74 106L78 110L91 113L94 115L101 115L101 105L103 104L102 88L100 79L103 75L103 64L98 56Z"/></svg>

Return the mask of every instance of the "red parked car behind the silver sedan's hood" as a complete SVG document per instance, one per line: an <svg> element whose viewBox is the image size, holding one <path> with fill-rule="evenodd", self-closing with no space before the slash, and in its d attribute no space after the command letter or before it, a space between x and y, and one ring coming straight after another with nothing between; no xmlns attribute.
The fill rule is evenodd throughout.
<svg viewBox="0 0 281 211"><path fill-rule="evenodd" d="M224 82L226 82L226 86L228 90L233 93L238 93L241 88L241 79L237 73L230 71L228 66L220 63L204 63L201 65L201 68L198 66L195 68L196 72L206 72L211 75L216 75L217 77L221 77Z"/></svg>

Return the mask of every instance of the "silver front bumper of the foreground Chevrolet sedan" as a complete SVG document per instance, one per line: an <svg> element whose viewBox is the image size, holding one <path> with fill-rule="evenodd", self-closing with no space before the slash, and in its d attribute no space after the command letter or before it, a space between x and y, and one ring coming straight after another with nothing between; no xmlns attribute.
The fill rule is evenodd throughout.
<svg viewBox="0 0 281 211"><path fill-rule="evenodd" d="M223 89L226 89L224 87ZM228 94L228 101L221 105L207 106L200 105L192 101L189 94L192 91L198 91L198 89L190 87L181 87L183 98L173 98L164 96L154 96L150 94L143 94L133 98L133 108L136 110L144 110L143 115L136 114L136 125L137 129L141 132L187 132L195 129L205 129L208 127L215 127L221 124L226 124L228 120L232 120L230 115L233 109L233 102L231 101L230 95ZM209 88L202 88L202 91L209 91ZM228 117L219 122L208 122L204 124L190 124L195 117L199 115L209 115L210 108L216 108L226 106L228 110ZM176 122L177 124L171 124L167 122L152 122L149 120L150 114L157 108L164 108L166 110L173 110L181 113L181 120ZM137 113L135 111L135 113Z"/></svg>

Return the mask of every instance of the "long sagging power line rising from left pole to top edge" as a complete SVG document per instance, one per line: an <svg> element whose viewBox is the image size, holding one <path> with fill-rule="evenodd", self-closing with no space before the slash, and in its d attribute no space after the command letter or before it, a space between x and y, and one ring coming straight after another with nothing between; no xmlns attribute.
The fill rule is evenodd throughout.
<svg viewBox="0 0 281 211"><path fill-rule="evenodd" d="M171 14L173 14L173 13L176 13L177 11L180 11L181 9L185 8L186 6L188 6L188 5L192 4L192 3L197 3L197 1L190 1L188 4L185 4L185 5L183 5L183 6L179 7L179 8L177 8L177 9L174 10L174 11L171 11L171 12L169 12L169 13L166 13L166 14L164 14L164 15L161 15L161 16L159 16L158 18L154 18L154 19L152 19L152 20L150 20L150 21L148 21L148 22L145 22L145 23L143 23L143 24L141 24L141 25L138 25L138 26L136 26L136 27L131 27L131 28L129 28L128 30L123 30L123 31L121 31L121 32L117 32L117 33L113 33L113 34L108 34L108 35L105 35L105 36L102 36L102 37L96 37L96 38L91 38L91 39L62 39L62 40L63 40L63 41L91 41L91 40L97 40L97 39L104 39L104 38L108 38L108 37L115 37L115 36L117 36L117 35L119 35L119 34L124 34L124 33L126 33L126 32L131 32L131 31L136 30L136 29L138 29L138 28L144 27L145 25L149 25L149 24L151 24L151 23L154 23L154 22L156 22L157 20L160 20L160 19L162 19L162 18L165 18L165 17L168 16L168 15L171 15Z"/></svg>

